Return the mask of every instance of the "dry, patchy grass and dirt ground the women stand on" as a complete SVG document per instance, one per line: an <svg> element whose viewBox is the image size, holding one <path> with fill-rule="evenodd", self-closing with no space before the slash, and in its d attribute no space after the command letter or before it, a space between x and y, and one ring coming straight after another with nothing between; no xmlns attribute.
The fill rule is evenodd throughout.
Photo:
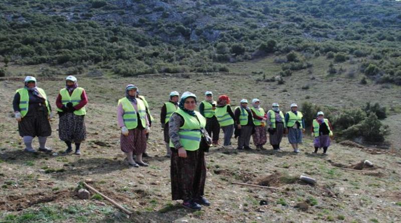
<svg viewBox="0 0 401 223"><path fill-rule="evenodd" d="M16 73L23 77L25 73ZM332 82L331 97L320 86L309 92L276 83L255 84L247 75L189 75L169 77L154 75L136 78L106 77L89 79L77 76L80 86L87 90L89 104L87 140L82 155L26 154L13 118L12 98L22 87L21 79L0 81L0 222L399 222L401 220L401 157L399 144L394 150L353 147L333 143L328 155L313 154L312 140L305 137L301 153L291 152L287 138L282 152L267 150L237 151L212 147L206 155L208 174L206 196L210 207L191 211L171 201L169 159L159 124L159 109L168 93L177 90L193 91L200 99L202 92L212 90L215 95L228 94L233 106L241 98L258 97L264 106L279 102L282 110L292 102L300 102L305 95L317 95L316 102L335 106L369 100L364 93L353 92L346 81ZM292 79L292 78L291 78ZM63 87L63 77L38 78L55 107L57 92ZM146 96L155 122L152 125L145 158L149 167L129 168L119 148L119 128L116 124L116 103L123 97L124 87L136 84ZM341 90L338 86L343 86ZM335 89L337 87L337 90ZM380 91L380 87L361 86L358 91ZM366 88L366 89L365 89ZM283 92L288 89L287 92ZM384 89L389 95L396 89ZM388 94L387 94L388 93ZM390 104L385 94L374 94L374 99ZM341 104L342 101L342 104ZM355 103L356 104L356 103ZM390 117L391 118L391 117ZM51 122L53 134L48 146L59 154L65 145L58 139L58 117ZM223 133L221 133L221 136ZM395 138L395 137L394 137ZM394 139L395 140L395 139ZM233 138L234 146L237 141ZM252 142L252 140L251 140ZM34 147L38 147L34 139ZM254 148L253 145L251 147ZM363 160L374 168L362 167L360 172L345 170ZM359 167L358 167L359 168ZM306 184L300 175L313 177L315 185ZM77 183L87 180L96 189L133 211L131 218L114 208L108 201L91 193L91 198L80 200L75 195ZM263 181L261 183L261 181ZM261 184L278 189L235 185L232 182Z"/></svg>

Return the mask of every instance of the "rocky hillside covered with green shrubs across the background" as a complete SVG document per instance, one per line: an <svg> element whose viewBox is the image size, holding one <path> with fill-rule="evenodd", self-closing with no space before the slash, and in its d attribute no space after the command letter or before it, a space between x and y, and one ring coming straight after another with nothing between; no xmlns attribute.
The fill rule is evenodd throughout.
<svg viewBox="0 0 401 223"><path fill-rule="evenodd" d="M322 55L356 63L354 72L377 83L401 84L397 1L13 0L0 11L5 64L135 76L228 72L227 63L274 55L285 76Z"/></svg>

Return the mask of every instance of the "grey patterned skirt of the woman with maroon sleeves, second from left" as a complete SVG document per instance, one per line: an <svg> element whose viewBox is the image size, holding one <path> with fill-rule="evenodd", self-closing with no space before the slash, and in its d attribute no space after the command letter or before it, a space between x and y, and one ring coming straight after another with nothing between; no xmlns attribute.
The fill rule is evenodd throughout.
<svg viewBox="0 0 401 223"><path fill-rule="evenodd" d="M59 137L63 141L82 142L86 139L85 115L59 113Z"/></svg>

